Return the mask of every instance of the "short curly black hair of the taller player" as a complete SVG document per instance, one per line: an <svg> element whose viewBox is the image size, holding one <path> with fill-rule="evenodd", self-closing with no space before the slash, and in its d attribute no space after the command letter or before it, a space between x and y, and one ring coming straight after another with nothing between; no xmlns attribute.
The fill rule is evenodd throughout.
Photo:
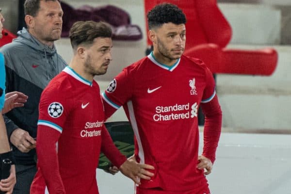
<svg viewBox="0 0 291 194"><path fill-rule="evenodd" d="M165 23L186 24L186 16L177 5L162 3L147 13L148 29L161 27Z"/></svg>

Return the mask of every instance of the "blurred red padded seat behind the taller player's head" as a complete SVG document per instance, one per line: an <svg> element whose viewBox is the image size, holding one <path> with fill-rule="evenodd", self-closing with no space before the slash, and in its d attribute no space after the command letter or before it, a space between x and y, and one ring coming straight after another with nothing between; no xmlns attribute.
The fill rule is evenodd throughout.
<svg viewBox="0 0 291 194"><path fill-rule="evenodd" d="M203 60L212 73L269 76L275 71L278 54L273 48L226 48L232 30L216 0L145 0L145 13L163 2L178 5L187 17L184 55ZM148 38L147 44L152 44Z"/></svg>

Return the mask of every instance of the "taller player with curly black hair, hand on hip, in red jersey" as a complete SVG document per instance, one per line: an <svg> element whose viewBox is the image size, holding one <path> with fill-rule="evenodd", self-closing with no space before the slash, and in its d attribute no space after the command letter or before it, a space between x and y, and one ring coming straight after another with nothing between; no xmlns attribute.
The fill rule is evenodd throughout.
<svg viewBox="0 0 291 194"><path fill-rule="evenodd" d="M124 107L135 133L136 160L155 167L155 176L141 180L137 194L210 193L205 175L215 160L222 113L210 70L182 55L185 22L175 5L153 8L148 13L153 52L123 69L102 94L106 118ZM198 156L200 105L206 119Z"/></svg>

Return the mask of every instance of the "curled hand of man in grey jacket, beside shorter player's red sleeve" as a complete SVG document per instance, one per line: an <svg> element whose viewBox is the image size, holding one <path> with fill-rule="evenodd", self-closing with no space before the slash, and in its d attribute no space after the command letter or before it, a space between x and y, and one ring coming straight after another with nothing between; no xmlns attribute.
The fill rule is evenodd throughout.
<svg viewBox="0 0 291 194"><path fill-rule="evenodd" d="M23 153L29 152L36 146L36 141L32 136L30 136L27 131L20 128L15 129L12 132L10 142Z"/></svg>

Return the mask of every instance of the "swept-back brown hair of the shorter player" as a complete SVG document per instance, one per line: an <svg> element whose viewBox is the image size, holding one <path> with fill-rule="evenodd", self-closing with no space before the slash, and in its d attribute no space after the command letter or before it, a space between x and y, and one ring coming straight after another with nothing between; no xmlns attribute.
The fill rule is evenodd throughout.
<svg viewBox="0 0 291 194"><path fill-rule="evenodd" d="M104 22L77 21L70 29L69 38L72 48L75 49L80 44L90 45L95 38L111 38L111 27Z"/></svg>

